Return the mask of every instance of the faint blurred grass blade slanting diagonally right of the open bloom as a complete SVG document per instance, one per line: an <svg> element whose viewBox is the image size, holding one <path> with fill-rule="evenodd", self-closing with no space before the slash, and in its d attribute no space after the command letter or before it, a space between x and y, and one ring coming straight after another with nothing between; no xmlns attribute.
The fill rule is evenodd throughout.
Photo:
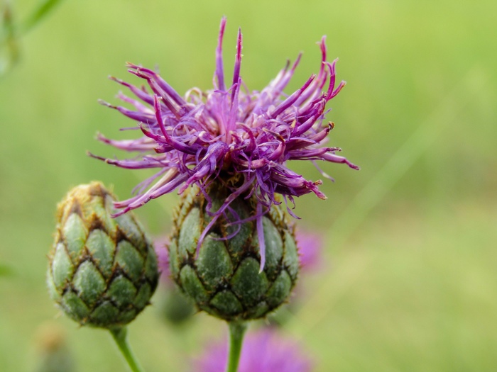
<svg viewBox="0 0 497 372"><path fill-rule="evenodd" d="M371 210L381 203L388 191L391 191L417 159L425 153L449 125L457 120L459 113L482 94L485 84L484 72L478 66L470 69L458 81L457 86L445 96L432 115L420 124L408 140L392 155L391 159L356 195L342 215L339 215L328 232L329 241L332 241L335 247L341 247L356 232ZM362 262L359 266L365 269L367 264ZM340 284L341 288L349 288L361 273L355 270L354 274L348 278L348 283ZM312 293L312 298L302 307L298 316L296 315L288 322L288 329L297 336L302 336L327 317L337 300L329 298L329 288L336 286L335 280L334 276L329 276L322 282L320 288ZM338 291L338 293L342 294L346 291ZM316 315L315 309L320 309L319 315Z"/></svg>

